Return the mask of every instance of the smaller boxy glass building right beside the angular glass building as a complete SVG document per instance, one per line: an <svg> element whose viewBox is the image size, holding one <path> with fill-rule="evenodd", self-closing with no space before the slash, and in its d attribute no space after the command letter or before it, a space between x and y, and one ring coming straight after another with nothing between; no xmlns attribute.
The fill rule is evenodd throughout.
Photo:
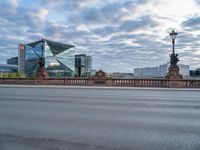
<svg viewBox="0 0 200 150"><path fill-rule="evenodd" d="M90 77L92 75L92 57L86 54L75 55L75 76Z"/></svg>

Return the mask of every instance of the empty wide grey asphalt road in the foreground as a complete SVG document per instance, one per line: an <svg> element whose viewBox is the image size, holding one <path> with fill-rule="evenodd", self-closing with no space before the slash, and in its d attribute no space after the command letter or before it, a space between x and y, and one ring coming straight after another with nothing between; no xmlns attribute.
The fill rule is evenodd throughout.
<svg viewBox="0 0 200 150"><path fill-rule="evenodd" d="M0 87L0 150L199 150L200 91Z"/></svg>

